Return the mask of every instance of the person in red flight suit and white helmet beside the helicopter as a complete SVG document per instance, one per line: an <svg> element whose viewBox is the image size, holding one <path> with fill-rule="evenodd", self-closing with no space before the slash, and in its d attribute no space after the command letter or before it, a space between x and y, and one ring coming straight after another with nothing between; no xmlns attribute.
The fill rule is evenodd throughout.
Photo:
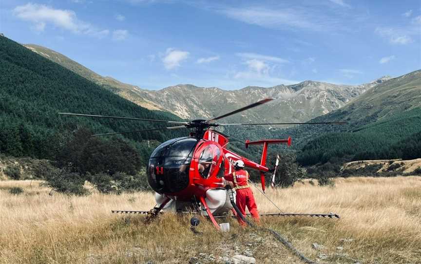
<svg viewBox="0 0 421 264"><path fill-rule="evenodd" d="M232 182L232 187L236 192L236 205L244 216L246 215L247 206L251 216L256 222L259 222L259 212L257 211L257 205L254 201L253 191L251 191L249 186L249 172L244 170L244 162L242 160L235 162L234 169L234 172L225 175L224 178L225 180ZM237 218L238 223L240 223L242 226L246 225L246 223L241 220L239 216L237 216Z"/></svg>

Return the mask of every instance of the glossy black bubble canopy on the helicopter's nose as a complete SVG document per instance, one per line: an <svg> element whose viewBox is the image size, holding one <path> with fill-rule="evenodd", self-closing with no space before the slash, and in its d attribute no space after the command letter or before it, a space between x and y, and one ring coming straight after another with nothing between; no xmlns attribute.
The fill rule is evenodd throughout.
<svg viewBox="0 0 421 264"><path fill-rule="evenodd" d="M189 168L197 142L194 137L174 138L153 151L146 172L154 191L178 192L189 185Z"/></svg>

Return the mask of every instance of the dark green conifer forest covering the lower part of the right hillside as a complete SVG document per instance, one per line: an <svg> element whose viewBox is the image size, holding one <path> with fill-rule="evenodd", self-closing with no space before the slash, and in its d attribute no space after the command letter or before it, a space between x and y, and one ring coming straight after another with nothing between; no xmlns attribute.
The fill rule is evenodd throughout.
<svg viewBox="0 0 421 264"><path fill-rule="evenodd" d="M399 113L354 132L328 133L306 144L303 165L368 159L421 157L421 108Z"/></svg>

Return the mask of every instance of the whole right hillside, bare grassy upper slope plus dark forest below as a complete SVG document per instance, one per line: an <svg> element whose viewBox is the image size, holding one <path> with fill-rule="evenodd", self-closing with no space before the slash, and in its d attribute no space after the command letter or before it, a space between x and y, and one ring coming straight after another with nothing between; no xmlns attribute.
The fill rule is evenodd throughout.
<svg viewBox="0 0 421 264"><path fill-rule="evenodd" d="M348 124L289 131L301 136L301 164L421 157L421 71L386 81L344 108L313 119L333 120Z"/></svg>

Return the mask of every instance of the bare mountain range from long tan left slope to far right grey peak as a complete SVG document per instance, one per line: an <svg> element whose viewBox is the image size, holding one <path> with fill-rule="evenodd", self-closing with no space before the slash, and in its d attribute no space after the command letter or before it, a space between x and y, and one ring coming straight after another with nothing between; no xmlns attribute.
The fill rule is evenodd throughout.
<svg viewBox="0 0 421 264"><path fill-rule="evenodd" d="M257 100L271 97L275 100L239 115L228 117L224 122L305 122L343 107L368 89L390 79L389 76L384 76L362 85L304 81L269 88L248 86L234 91L179 84L158 91L150 91L119 82L112 77L98 75L76 61L48 48L33 44L25 46L137 105L150 110L174 113L184 119L209 119Z"/></svg>

